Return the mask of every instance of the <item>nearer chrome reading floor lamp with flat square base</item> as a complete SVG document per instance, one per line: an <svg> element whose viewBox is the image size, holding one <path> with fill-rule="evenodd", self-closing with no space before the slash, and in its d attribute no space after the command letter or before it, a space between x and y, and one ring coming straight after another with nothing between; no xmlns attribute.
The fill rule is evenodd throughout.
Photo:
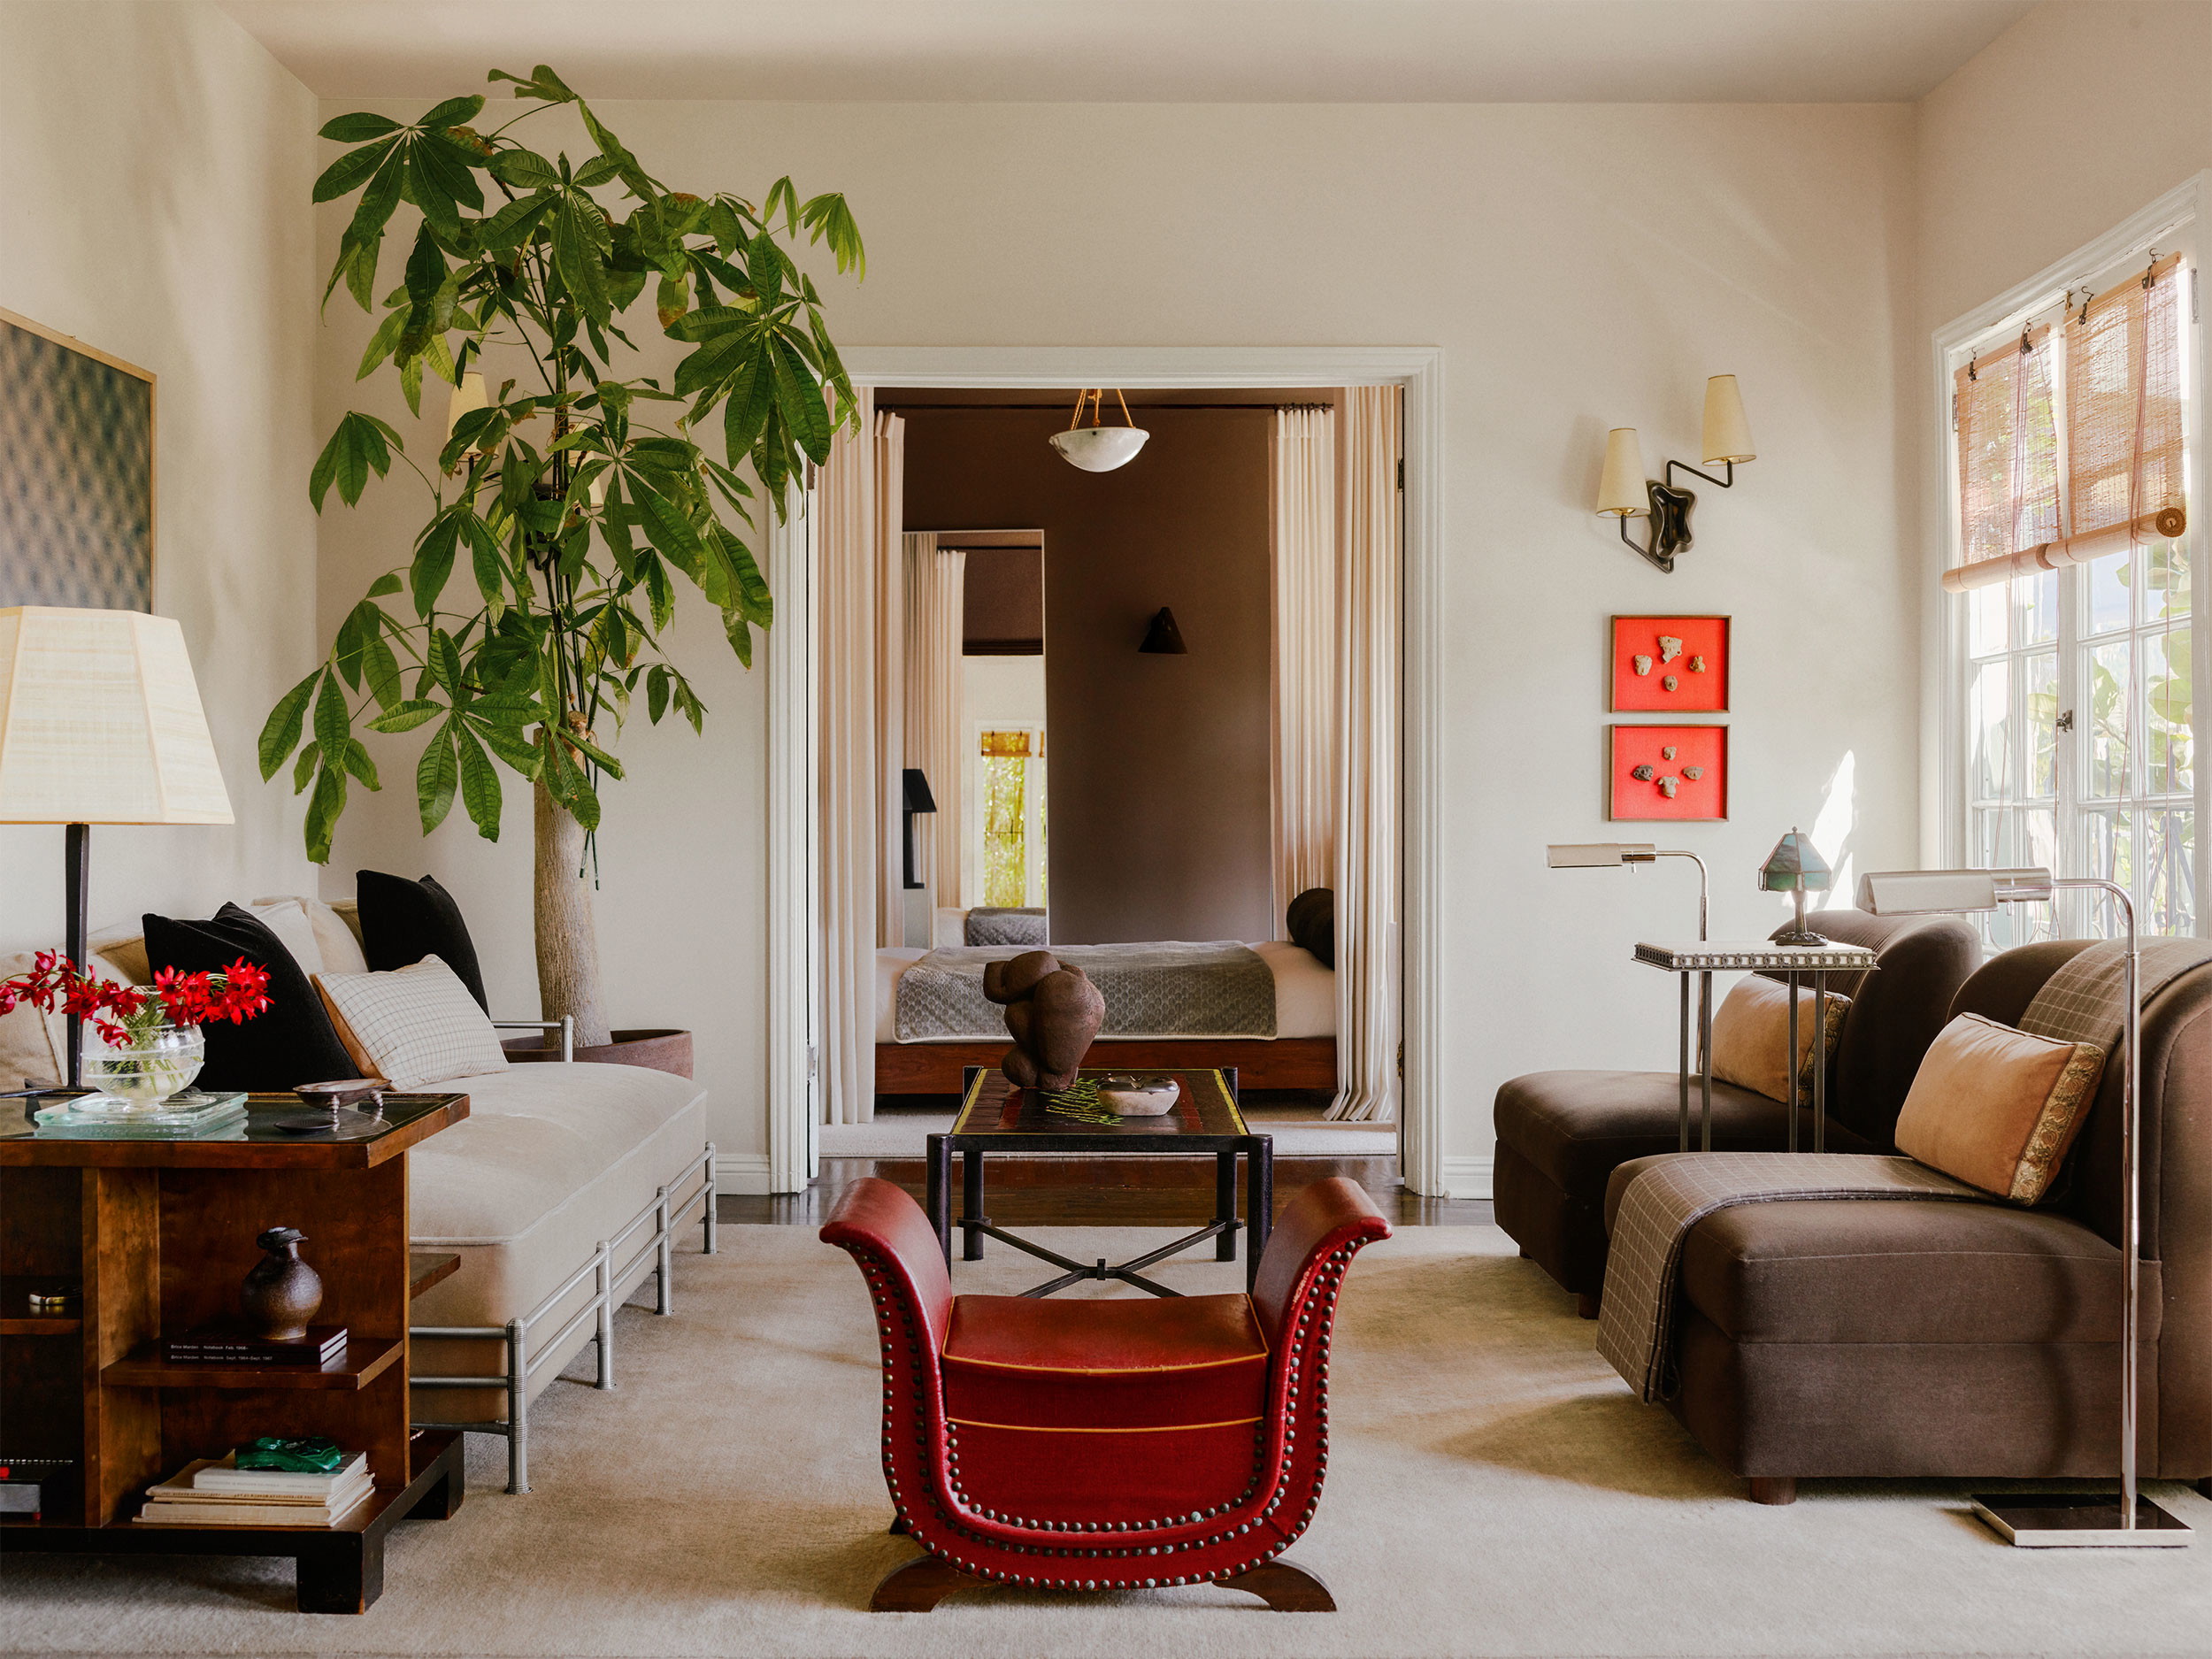
<svg viewBox="0 0 2212 1659"><path fill-rule="evenodd" d="M2124 887L2097 876L2053 876L2048 869L1893 869L1860 876L1858 907L1874 916L1936 916L2035 905L2062 889L2099 891L2119 905L2128 927L2128 989L2121 1022L2119 1093L2119 1498L2101 1493L1975 1493L1973 1513L2008 1544L2188 1544L2190 1528L2135 1491L2135 1389L2141 1340L2141 1044L2137 1000L2141 953L2135 905Z"/></svg>

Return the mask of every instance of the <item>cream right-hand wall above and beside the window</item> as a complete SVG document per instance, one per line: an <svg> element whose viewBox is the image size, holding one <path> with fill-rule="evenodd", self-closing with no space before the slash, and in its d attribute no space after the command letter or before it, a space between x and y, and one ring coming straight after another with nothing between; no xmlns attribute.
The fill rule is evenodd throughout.
<svg viewBox="0 0 2212 1659"><path fill-rule="evenodd" d="M1922 489L1922 854L1942 863L1944 447L1929 336L2212 168L2212 7L2053 0L1918 111L1920 272L1911 352ZM2199 230L2199 237L2203 232ZM2203 243L2199 243L2203 246ZM1953 602L1955 604L1955 602Z"/></svg>

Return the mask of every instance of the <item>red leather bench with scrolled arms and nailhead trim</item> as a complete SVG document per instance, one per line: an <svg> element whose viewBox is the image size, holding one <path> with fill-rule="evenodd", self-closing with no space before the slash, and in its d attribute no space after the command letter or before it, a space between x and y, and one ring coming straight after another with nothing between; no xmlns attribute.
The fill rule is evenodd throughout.
<svg viewBox="0 0 2212 1659"><path fill-rule="evenodd" d="M1285 1208L1250 1296L953 1296L922 1208L889 1181L847 1188L821 1237L867 1279L891 1531L929 1551L876 1586L878 1613L989 1584L1228 1584L1336 1608L1276 1557L1329 1467L1336 1290L1389 1237L1358 1181Z"/></svg>

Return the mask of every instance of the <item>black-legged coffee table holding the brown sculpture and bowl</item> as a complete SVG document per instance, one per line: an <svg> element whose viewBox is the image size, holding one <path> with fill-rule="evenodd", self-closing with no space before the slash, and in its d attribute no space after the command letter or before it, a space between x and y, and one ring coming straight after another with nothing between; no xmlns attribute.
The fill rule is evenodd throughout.
<svg viewBox="0 0 2212 1659"><path fill-rule="evenodd" d="M1117 1068L1119 1071L1119 1068ZM1108 1071L1086 1068L1082 1077L1106 1077ZM1237 1261L1237 1232L1245 1243L1245 1290L1259 1276L1259 1256L1267 1248L1274 1212L1274 1139L1254 1135L1237 1110L1237 1073L1223 1068L1135 1071L1137 1077L1172 1077L1181 1088L1175 1106L1159 1117L1121 1117L1110 1124L1055 1110L1055 1099L1035 1088L1015 1088L998 1071L971 1068L960 1115L949 1135L929 1137L929 1225L938 1230L945 1263L953 1259L951 1172L960 1155L960 1230L967 1234L964 1261L982 1261L982 1241L1026 1250L1062 1270L1057 1279L1024 1290L1024 1296L1051 1296L1086 1279L1119 1279L1155 1296L1181 1296L1152 1279L1144 1267L1181 1254L1192 1245L1214 1241L1217 1261ZM1015 1152L1026 1157L1064 1157L1071 1152L1150 1152L1168 1157L1214 1157L1214 1219L1192 1234L1166 1243L1124 1263L1082 1263L1046 1250L1031 1239L1004 1232L984 1212L984 1155ZM1237 1219L1237 1155L1245 1157L1245 1221Z"/></svg>

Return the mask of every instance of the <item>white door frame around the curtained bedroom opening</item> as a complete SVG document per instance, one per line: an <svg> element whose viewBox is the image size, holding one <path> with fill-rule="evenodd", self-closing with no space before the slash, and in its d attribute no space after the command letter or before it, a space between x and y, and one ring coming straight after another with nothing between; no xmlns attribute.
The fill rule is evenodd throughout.
<svg viewBox="0 0 2212 1659"><path fill-rule="evenodd" d="M1405 387L1405 684L1400 706L1405 794L1400 834L1405 885L1405 1086L1398 1150L1405 1183L1447 1197L1444 1095L1438 1075L1438 896L1442 858L1442 792L1438 741L1442 726L1442 573L1444 573L1444 354L1433 345L856 345L845 347L854 385L927 387ZM770 538L774 555L776 542ZM803 538L792 538L794 544ZM810 546L810 544L807 544ZM805 551L794 546L794 551ZM783 560L772 557L772 564ZM770 571L779 608L794 586L787 566ZM799 586L805 580L801 577ZM779 617L781 622L781 617ZM770 633L770 639L774 639ZM799 657L801 653L790 653ZM812 883L805 801L812 796L812 650L807 661L774 675L768 708L768 867L770 867L770 1186L796 1192L814 1175L814 1046L805 995L776 987L812 984Z"/></svg>

